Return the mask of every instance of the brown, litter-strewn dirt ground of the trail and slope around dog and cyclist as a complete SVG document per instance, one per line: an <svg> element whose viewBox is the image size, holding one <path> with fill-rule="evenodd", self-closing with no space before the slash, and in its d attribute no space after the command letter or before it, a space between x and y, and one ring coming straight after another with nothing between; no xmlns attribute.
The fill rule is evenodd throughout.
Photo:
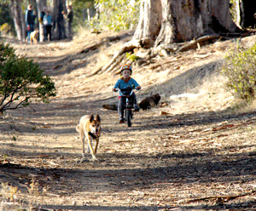
<svg viewBox="0 0 256 211"><path fill-rule="evenodd" d="M161 100L136 113L127 128L117 111L102 108L117 103L111 88L119 76L88 76L131 37L80 54L108 36L38 45L6 40L54 78L58 94L49 104L34 102L1 117L0 209L256 210L256 112L232 110L230 94L211 89L212 80L223 83L219 66L236 42L135 67L143 87L138 99L159 93ZM245 37L241 44L255 40ZM88 154L80 163L75 127L96 113L102 118L99 160Z"/></svg>

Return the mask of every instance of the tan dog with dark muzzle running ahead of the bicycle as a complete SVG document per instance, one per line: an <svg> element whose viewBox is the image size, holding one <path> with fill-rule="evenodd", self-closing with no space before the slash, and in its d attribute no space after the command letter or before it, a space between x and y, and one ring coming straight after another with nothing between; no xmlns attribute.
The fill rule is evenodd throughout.
<svg viewBox="0 0 256 211"><path fill-rule="evenodd" d="M92 159L96 160L96 151L99 145L100 135L101 135L101 118L97 114L96 119L92 115L85 115L81 117L80 123L77 125L77 131L79 132L82 140L82 155L85 157L84 152L84 140L86 138L88 143L88 152L91 153ZM95 149L93 150L91 142L96 140Z"/></svg>

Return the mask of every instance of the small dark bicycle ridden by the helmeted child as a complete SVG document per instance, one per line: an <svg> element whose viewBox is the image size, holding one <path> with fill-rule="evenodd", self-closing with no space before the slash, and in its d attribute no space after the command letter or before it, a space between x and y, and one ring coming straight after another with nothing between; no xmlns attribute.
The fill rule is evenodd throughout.
<svg viewBox="0 0 256 211"><path fill-rule="evenodd" d="M133 117L133 100L131 95L133 94L132 88L118 88L121 95L121 98L126 98L125 103L125 120L127 121L128 128L131 127L131 119Z"/></svg>

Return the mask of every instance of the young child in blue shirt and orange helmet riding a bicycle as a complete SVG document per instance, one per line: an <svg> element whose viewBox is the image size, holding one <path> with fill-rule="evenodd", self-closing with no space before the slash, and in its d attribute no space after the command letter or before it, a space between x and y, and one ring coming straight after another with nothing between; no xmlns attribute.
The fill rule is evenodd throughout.
<svg viewBox="0 0 256 211"><path fill-rule="evenodd" d="M133 88L133 89L136 88L137 90L140 90L141 86L137 83L137 81L131 78L131 73L132 73L131 66L126 64L121 66L122 77L117 81L117 83L115 83L112 90L114 92L118 91L117 88ZM124 123L124 110L125 110L126 99L122 98L121 96L122 96L122 93L119 91L119 107L118 107L119 123ZM131 98L135 104L134 106L135 111L139 111L139 107L137 106L136 94L134 93L131 94Z"/></svg>

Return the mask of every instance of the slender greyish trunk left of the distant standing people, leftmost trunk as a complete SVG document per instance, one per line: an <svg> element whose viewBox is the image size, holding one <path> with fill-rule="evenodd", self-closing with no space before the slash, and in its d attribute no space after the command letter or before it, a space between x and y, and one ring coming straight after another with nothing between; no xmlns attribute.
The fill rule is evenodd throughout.
<svg viewBox="0 0 256 211"><path fill-rule="evenodd" d="M18 40L25 41L26 39L26 24L25 16L21 9L21 0L11 0L10 10L15 22L15 31Z"/></svg>

